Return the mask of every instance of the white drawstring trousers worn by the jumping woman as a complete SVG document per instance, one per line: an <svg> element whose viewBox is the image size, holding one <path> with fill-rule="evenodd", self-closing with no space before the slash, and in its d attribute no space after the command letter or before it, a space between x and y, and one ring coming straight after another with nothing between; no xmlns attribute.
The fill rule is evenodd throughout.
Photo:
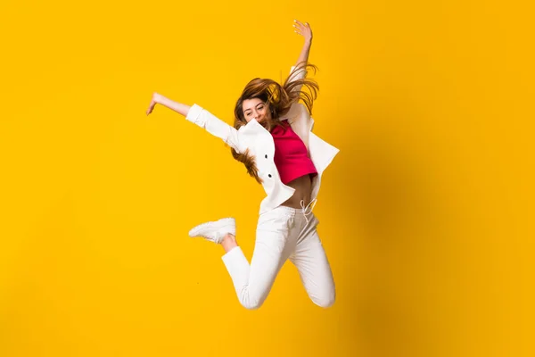
<svg viewBox="0 0 535 357"><path fill-rule="evenodd" d="M334 303L333 273L317 236L318 220L312 212L279 206L259 216L251 265L237 246L222 259L240 303L257 309L268 297L276 275L290 259L312 302L322 307Z"/></svg>

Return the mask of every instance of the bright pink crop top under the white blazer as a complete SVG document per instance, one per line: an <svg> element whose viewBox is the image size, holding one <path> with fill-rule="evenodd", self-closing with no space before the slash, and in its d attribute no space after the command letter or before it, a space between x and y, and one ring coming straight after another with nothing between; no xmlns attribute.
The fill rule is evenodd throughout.
<svg viewBox="0 0 535 357"><path fill-rule="evenodd" d="M274 161L281 181L286 185L305 175L310 175L312 179L317 175L317 170L309 158L305 143L292 130L288 120L283 120L282 123L284 128L276 126L271 130L275 143Z"/></svg>

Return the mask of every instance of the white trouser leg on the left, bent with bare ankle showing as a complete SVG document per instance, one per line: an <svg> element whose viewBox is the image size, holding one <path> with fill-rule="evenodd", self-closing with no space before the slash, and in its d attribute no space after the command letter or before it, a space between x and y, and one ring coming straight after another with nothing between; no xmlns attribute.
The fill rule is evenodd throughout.
<svg viewBox="0 0 535 357"><path fill-rule="evenodd" d="M288 244L291 218L287 211L277 209L259 217L251 265L239 246L223 255L243 307L258 309L264 303L276 275L292 253L292 245Z"/></svg>

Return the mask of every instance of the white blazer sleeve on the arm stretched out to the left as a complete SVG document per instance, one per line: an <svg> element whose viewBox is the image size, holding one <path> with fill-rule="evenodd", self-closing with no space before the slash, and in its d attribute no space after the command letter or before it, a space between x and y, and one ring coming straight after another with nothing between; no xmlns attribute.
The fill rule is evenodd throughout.
<svg viewBox="0 0 535 357"><path fill-rule="evenodd" d="M203 109L201 106L193 104L185 119L197 124L211 135L219 137L238 153L241 152L240 148L242 145L239 141L238 130L226 124L225 121L218 119L215 115Z"/></svg>

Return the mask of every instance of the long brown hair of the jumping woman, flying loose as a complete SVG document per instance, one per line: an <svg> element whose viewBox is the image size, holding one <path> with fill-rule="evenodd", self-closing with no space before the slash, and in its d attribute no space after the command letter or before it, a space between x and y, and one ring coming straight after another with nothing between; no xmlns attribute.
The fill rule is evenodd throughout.
<svg viewBox="0 0 535 357"><path fill-rule="evenodd" d="M271 119L268 119L268 115L266 115L265 120L262 120L260 124L268 131L271 131L276 126L282 126L283 124L279 119L280 116L288 112L292 104L298 103L300 100L312 115L312 106L317 98L319 86L315 80L306 78L308 68L313 69L314 73L317 71L317 67L314 64L298 63L284 80L282 86L273 79L256 78L247 83L235 105L235 129L240 129L247 124L247 120L243 116L243 101L247 99L258 98L266 104L267 110L271 113ZM304 71L305 75L302 79L296 79L300 71ZM303 89L307 89L307 91ZM261 184L262 179L259 178L254 157L249 154L249 150L238 153L234 148L231 148L231 153L235 160L243 162L247 173Z"/></svg>

